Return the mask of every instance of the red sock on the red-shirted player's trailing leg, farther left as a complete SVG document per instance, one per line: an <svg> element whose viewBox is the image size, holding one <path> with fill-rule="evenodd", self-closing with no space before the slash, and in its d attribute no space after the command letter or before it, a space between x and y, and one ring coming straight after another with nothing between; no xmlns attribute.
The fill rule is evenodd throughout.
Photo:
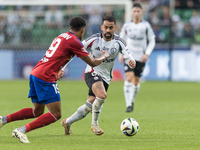
<svg viewBox="0 0 200 150"><path fill-rule="evenodd" d="M33 108L24 108L13 114L7 115L6 117L7 117L7 123L9 123L9 122L16 121L16 120L35 118L35 114L34 114Z"/></svg>

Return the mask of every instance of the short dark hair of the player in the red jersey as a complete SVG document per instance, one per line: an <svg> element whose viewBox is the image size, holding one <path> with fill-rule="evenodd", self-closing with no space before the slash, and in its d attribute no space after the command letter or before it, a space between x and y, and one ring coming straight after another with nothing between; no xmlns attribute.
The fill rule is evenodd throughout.
<svg viewBox="0 0 200 150"><path fill-rule="evenodd" d="M82 27L86 26L85 19L82 17L74 17L69 22L70 29L79 31Z"/></svg>

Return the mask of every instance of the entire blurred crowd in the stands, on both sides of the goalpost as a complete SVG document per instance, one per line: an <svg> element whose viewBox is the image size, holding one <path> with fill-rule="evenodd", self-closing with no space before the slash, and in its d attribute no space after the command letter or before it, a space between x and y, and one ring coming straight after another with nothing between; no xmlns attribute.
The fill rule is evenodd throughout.
<svg viewBox="0 0 200 150"><path fill-rule="evenodd" d="M144 19L156 34L157 43L175 44L200 42L200 0L175 0L170 10L170 0L133 0L141 2ZM71 5L71 6L0 6L0 45L49 44L68 30L68 21L81 14L87 20L85 36L100 32L101 16L114 15L117 34L124 23L124 6Z"/></svg>

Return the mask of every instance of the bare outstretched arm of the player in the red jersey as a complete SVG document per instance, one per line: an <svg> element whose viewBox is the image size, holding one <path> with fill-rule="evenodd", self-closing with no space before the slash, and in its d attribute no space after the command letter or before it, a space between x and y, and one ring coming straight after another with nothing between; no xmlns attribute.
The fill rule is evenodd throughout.
<svg viewBox="0 0 200 150"><path fill-rule="evenodd" d="M92 58L91 56L84 56L84 57L81 57L81 59L84 62L86 62L88 65L90 65L91 67L95 67L95 66L99 65L100 63L102 63L104 61L104 59L106 59L108 57L110 57L108 52L105 50L101 50L100 57Z"/></svg>

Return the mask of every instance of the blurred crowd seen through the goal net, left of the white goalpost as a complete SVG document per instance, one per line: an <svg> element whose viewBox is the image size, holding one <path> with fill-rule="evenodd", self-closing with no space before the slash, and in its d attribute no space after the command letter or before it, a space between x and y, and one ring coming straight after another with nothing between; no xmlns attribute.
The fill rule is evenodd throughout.
<svg viewBox="0 0 200 150"><path fill-rule="evenodd" d="M68 31L69 19L78 15L87 20L89 36L100 32L103 15L116 16L121 26L124 6L0 6L0 44L49 44Z"/></svg>

